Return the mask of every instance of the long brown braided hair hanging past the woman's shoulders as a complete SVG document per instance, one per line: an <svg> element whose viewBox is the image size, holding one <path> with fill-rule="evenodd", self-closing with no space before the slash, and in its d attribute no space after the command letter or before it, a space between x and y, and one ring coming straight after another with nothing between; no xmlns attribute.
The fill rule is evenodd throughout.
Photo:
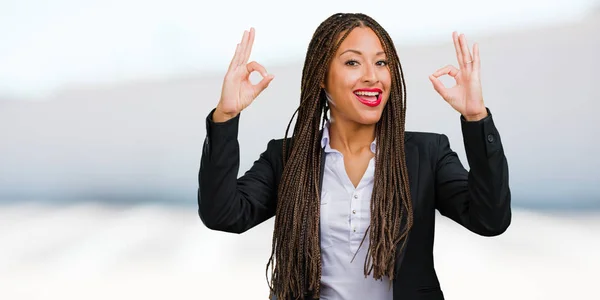
<svg viewBox="0 0 600 300"><path fill-rule="evenodd" d="M367 26L379 37L392 75L390 99L376 125L375 181L365 276L394 279L396 247L405 248L412 227L412 202L405 161L404 128L406 87L402 67L387 32L363 14L335 14L315 31L309 43L301 80L300 105L288 123L283 140L283 174L271 257L267 263L269 287L279 300L318 298L321 280L320 198L321 128L328 106L321 83L339 45L356 27ZM293 136L288 133L297 114ZM289 143L288 143L289 141ZM289 149L288 149L289 148ZM362 246L362 242L361 242ZM358 251L357 251L358 252ZM269 272L269 266L271 271Z"/></svg>

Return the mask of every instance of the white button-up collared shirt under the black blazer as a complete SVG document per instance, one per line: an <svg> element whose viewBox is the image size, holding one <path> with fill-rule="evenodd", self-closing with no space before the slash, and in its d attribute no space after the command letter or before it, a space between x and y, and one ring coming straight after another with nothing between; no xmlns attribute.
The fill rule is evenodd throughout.
<svg viewBox="0 0 600 300"><path fill-rule="evenodd" d="M352 261L371 220L371 192L375 158L355 188L346 173L344 157L329 144L329 123L323 128L321 146L325 150L325 170L321 191L321 299L391 300L387 277L373 279L364 275L369 236ZM371 151L375 153L375 141Z"/></svg>

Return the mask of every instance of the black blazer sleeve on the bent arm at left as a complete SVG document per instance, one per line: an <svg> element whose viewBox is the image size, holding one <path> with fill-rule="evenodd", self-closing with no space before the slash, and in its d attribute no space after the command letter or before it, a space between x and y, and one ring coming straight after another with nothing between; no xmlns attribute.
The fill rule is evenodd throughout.
<svg viewBox="0 0 600 300"><path fill-rule="evenodd" d="M242 233L275 215L277 189L271 159L274 140L252 167L237 178L240 115L215 123L213 112L214 109L206 118L207 132L198 173L198 214L210 229Z"/></svg>

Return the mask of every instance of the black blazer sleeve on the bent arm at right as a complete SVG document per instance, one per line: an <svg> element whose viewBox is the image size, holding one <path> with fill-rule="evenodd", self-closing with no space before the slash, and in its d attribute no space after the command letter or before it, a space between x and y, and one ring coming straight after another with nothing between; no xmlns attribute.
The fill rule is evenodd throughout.
<svg viewBox="0 0 600 300"><path fill-rule="evenodd" d="M483 236L502 234L511 222L508 162L492 114L469 122L460 117L470 170L440 135L436 166L436 208Z"/></svg>

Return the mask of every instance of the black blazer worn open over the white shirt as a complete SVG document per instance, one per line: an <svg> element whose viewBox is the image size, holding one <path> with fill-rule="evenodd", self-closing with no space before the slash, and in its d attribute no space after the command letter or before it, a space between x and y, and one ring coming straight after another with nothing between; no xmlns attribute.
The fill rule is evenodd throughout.
<svg viewBox="0 0 600 300"><path fill-rule="evenodd" d="M233 233L275 215L283 171L283 139L275 139L250 170L237 178L239 118L215 123L212 112L208 115L198 176L202 222L210 229ZM488 109L488 116L476 122L461 116L460 122L470 171L445 135L406 132L414 224L405 252L396 260L394 299L444 299L433 263L436 209L482 236L499 235L511 222L508 163L491 112Z"/></svg>

